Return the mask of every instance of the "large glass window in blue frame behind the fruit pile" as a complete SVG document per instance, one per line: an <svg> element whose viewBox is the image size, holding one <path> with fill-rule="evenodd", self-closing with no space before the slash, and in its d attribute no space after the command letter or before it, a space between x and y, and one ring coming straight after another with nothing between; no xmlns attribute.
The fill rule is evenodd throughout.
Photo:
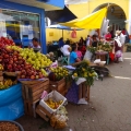
<svg viewBox="0 0 131 131"><path fill-rule="evenodd" d="M10 36L16 45L28 46L34 37L40 40L39 15L2 9L0 36Z"/></svg>

